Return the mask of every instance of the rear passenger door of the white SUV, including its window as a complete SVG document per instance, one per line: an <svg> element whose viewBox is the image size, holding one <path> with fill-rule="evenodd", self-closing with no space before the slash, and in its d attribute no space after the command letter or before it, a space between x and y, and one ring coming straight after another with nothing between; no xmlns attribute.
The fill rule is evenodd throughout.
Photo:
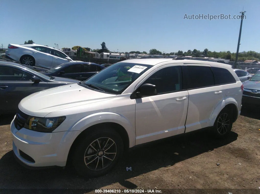
<svg viewBox="0 0 260 194"><path fill-rule="evenodd" d="M189 105L185 132L198 130L210 125L211 113L222 102L222 85L215 85L211 67L206 64L186 66Z"/></svg>

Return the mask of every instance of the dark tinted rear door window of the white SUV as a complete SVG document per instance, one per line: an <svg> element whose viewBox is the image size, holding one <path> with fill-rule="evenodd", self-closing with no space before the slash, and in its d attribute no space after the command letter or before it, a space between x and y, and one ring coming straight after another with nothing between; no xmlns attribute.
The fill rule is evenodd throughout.
<svg viewBox="0 0 260 194"><path fill-rule="evenodd" d="M214 76L210 67L187 66L188 89L214 85Z"/></svg>

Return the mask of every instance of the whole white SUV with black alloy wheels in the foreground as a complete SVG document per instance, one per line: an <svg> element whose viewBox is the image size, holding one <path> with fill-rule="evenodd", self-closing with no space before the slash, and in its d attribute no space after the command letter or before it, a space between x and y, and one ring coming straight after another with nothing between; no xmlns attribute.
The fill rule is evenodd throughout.
<svg viewBox="0 0 260 194"><path fill-rule="evenodd" d="M11 122L13 151L31 167L65 166L85 176L107 173L133 146L210 127L231 130L243 85L229 65L133 59L87 81L25 97Z"/></svg>

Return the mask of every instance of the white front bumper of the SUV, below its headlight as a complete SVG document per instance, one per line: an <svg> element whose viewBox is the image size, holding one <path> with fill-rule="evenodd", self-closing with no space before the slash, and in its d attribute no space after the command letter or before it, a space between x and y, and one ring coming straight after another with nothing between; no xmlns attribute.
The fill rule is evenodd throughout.
<svg viewBox="0 0 260 194"><path fill-rule="evenodd" d="M15 156L30 167L66 166L69 149L80 134L80 131L42 133L25 128L17 130L14 119L11 132Z"/></svg>

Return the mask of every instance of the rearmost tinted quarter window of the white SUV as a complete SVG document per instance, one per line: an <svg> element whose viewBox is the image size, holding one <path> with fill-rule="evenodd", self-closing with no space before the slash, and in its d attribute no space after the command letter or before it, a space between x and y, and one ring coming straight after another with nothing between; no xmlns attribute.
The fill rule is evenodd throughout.
<svg viewBox="0 0 260 194"><path fill-rule="evenodd" d="M219 67L211 67L211 70L214 74L215 84L228 84L235 83L236 80L229 70ZM233 71L233 70L232 70Z"/></svg>

